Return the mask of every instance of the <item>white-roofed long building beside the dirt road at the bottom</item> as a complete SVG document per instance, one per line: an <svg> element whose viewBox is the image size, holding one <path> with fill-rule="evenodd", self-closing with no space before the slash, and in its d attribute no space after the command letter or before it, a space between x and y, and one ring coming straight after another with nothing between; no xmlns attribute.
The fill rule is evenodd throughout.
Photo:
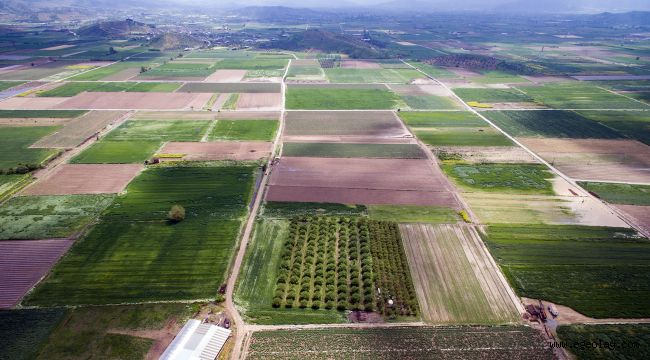
<svg viewBox="0 0 650 360"><path fill-rule="evenodd" d="M230 330L220 326L189 320L160 360L214 360L230 333Z"/></svg>

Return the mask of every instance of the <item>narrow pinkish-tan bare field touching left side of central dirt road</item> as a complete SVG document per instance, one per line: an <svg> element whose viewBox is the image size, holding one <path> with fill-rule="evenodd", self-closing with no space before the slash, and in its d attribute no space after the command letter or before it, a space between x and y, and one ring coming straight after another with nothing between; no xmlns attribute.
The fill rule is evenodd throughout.
<svg viewBox="0 0 650 360"><path fill-rule="evenodd" d="M271 155L265 141L170 142L161 154L185 154L183 160L257 160Z"/></svg>

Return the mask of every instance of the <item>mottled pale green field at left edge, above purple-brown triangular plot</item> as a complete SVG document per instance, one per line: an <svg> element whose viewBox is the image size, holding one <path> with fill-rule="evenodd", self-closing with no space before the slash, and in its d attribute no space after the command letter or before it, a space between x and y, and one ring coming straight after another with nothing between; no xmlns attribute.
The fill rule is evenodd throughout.
<svg viewBox="0 0 650 360"><path fill-rule="evenodd" d="M83 230L113 195L18 196L0 206L0 240L63 238Z"/></svg>

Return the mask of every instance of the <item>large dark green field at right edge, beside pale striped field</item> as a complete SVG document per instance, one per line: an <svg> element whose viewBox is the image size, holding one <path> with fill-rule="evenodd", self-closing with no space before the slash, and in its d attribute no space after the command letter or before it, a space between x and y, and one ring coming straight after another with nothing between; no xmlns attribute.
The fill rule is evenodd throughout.
<svg viewBox="0 0 650 360"><path fill-rule="evenodd" d="M590 317L650 316L650 240L630 229L491 225L485 241L519 296Z"/></svg>

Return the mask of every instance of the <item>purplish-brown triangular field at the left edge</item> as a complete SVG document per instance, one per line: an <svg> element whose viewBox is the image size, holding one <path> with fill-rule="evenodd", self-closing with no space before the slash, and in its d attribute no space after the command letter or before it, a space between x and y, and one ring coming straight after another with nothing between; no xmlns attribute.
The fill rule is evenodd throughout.
<svg viewBox="0 0 650 360"><path fill-rule="evenodd" d="M0 308L16 306L73 242L68 239L0 241Z"/></svg>

